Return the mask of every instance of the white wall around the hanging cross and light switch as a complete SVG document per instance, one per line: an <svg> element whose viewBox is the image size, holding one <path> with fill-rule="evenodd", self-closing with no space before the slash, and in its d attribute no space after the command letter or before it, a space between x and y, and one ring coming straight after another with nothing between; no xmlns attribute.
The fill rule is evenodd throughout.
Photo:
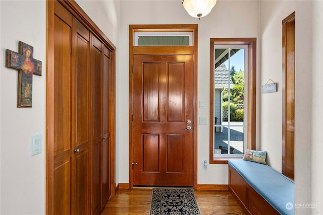
<svg viewBox="0 0 323 215"><path fill-rule="evenodd" d="M46 2L0 1L1 5L1 214L45 213ZM33 76L32 108L17 108L17 70L5 67L6 49L34 47L42 76ZM30 156L30 136L41 133L41 153Z"/></svg>

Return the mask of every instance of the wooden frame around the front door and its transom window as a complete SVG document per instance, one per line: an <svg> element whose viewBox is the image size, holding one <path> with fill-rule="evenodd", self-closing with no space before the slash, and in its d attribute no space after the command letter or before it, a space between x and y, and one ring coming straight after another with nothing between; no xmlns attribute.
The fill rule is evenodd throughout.
<svg viewBox="0 0 323 215"><path fill-rule="evenodd" d="M193 188L197 188L197 24L184 24L184 25L129 25L129 188L133 188L133 169L131 162L134 157L134 142L133 142L133 54L134 54L134 32L140 29L168 29L169 31L180 31L186 29L193 31L194 37L194 71L193 71Z"/></svg>

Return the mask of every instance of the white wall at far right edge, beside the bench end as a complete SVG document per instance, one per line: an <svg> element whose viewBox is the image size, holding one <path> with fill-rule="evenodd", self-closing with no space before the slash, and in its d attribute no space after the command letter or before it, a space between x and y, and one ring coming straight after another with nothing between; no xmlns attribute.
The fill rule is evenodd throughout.
<svg viewBox="0 0 323 215"><path fill-rule="evenodd" d="M295 202L317 204L299 214L323 214L322 11L321 1L296 1Z"/></svg>

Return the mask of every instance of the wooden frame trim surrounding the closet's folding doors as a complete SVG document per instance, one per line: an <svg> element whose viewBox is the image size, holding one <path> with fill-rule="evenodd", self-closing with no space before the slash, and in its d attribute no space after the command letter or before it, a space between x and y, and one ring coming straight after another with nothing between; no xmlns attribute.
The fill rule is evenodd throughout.
<svg viewBox="0 0 323 215"><path fill-rule="evenodd" d="M82 10L82 8L74 1L60 1L58 0L77 20L79 20L96 38L98 38L108 49L111 51L111 64L112 64L112 80L111 80L111 128L110 138L113 144L110 145L111 153L111 178L110 178L110 192L111 196L115 195L115 109L116 109L116 46L103 34L103 32L97 27L97 25L90 19L90 17ZM54 98L51 92L53 92L54 84L54 64L53 64L53 50L54 50L54 38L53 38L53 26L54 26L54 10L55 1L46 2L46 214L54 214L53 211L53 179L54 179L54 148L53 148L53 104Z"/></svg>

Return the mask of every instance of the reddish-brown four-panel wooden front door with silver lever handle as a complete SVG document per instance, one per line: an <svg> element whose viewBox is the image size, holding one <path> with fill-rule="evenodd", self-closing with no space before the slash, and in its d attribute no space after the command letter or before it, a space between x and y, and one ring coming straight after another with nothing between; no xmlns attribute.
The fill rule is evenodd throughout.
<svg viewBox="0 0 323 215"><path fill-rule="evenodd" d="M134 55L134 186L193 186L193 55Z"/></svg>

